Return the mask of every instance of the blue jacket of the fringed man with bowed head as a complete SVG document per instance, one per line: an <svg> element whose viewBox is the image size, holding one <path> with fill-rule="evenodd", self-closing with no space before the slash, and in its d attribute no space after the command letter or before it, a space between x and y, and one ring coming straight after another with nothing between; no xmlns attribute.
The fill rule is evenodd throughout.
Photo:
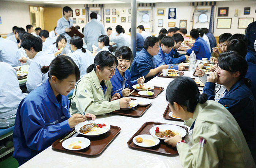
<svg viewBox="0 0 256 168"><path fill-rule="evenodd" d="M166 53L163 53L161 47L159 47L157 55L154 56L156 67L161 65L168 65L168 68L173 68L178 70L178 65L173 65L170 63L171 58L168 58L170 56L167 56Z"/></svg>

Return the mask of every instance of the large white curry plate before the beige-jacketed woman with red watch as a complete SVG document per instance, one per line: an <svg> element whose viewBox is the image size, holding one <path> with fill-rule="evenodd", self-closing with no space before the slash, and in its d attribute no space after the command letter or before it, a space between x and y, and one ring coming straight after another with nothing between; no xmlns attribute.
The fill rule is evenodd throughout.
<svg viewBox="0 0 256 168"><path fill-rule="evenodd" d="M150 134L161 140L166 140L167 138L160 138L160 137L157 137L157 135L155 135L155 129L157 129L157 127L159 127L159 131L171 130L174 133L178 133L178 135L180 135L181 138L185 137L185 135L187 134L187 131L184 128L177 125L162 124L162 125L156 125L154 127L151 127L151 129L149 130Z"/></svg>

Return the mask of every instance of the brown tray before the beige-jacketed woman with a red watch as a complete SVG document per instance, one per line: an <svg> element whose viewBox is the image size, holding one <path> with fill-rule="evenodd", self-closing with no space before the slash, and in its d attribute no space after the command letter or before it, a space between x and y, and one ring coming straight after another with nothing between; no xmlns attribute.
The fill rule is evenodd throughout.
<svg viewBox="0 0 256 168"><path fill-rule="evenodd" d="M150 147L150 148L143 148L141 146L135 145L132 142L132 139L137 135L141 135L141 134L149 134L150 135L149 130L151 129L151 127L153 127L155 125L161 125L161 124L166 124L166 123L159 123L159 122L144 123L143 126L140 127L140 129L127 142L129 148L136 148L136 149L146 150L146 151L150 151L150 152L157 152L157 153L171 154L171 155L178 153L176 148L172 147L171 145L167 145L167 143L165 143L163 140L160 140L160 143L158 145ZM188 129L186 127L184 127L184 126L180 126L180 127L184 128L188 132Z"/></svg>

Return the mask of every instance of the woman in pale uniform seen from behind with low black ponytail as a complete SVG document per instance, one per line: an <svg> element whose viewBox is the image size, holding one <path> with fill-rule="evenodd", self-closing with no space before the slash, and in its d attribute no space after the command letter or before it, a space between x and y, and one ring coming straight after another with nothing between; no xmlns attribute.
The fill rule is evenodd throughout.
<svg viewBox="0 0 256 168"><path fill-rule="evenodd" d="M74 53L71 54L72 60L76 63L80 70L80 78L86 75L86 69L93 64L93 56L89 50L83 48L83 39L74 36L70 40L70 47Z"/></svg>

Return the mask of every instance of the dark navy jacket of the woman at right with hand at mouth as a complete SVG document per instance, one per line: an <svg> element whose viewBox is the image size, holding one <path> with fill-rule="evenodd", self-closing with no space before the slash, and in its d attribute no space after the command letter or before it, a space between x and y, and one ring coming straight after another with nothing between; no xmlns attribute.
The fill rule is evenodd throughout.
<svg viewBox="0 0 256 168"><path fill-rule="evenodd" d="M203 93L208 100L214 100L215 83L206 82ZM244 79L238 80L229 91L223 93L218 103L230 111L240 126L251 151L256 150L256 101L251 90L245 85Z"/></svg>

